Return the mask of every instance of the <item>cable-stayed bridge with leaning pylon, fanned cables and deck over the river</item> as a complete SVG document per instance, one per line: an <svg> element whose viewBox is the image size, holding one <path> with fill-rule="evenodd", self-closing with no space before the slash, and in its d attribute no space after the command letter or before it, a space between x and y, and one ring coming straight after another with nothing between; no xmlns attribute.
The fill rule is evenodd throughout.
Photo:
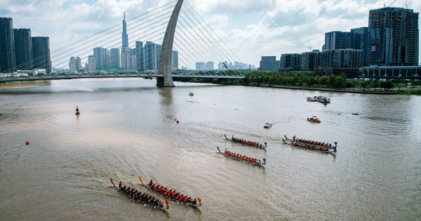
<svg viewBox="0 0 421 221"><path fill-rule="evenodd" d="M82 63L90 65L88 59L94 54L95 72L91 75L31 76L27 80L152 76L156 77L157 86L173 86L173 76L243 78L243 71L227 62L240 61L239 58L187 1L171 1L142 15L124 19L123 29L127 30L128 48L122 46L125 33L122 34L121 24L117 24L51 52L53 67L57 69L67 69L69 58L76 56ZM107 55L116 48L121 52L121 58ZM116 60L121 64L112 63ZM206 62L211 67L194 71L196 62ZM217 64L218 68L215 69L213 64ZM25 80L17 77L9 80L16 79Z"/></svg>

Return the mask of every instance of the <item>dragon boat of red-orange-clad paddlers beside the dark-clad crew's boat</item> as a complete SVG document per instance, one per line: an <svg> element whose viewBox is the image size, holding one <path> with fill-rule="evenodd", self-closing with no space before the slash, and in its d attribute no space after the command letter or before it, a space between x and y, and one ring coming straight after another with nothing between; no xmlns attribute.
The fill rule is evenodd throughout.
<svg viewBox="0 0 421 221"><path fill-rule="evenodd" d="M184 203L187 206L193 206L193 207L199 207L201 206L201 199L200 197L196 197L196 199L193 199L190 196L187 196L185 194L180 194L179 192L175 192L173 189L168 189L168 187L163 187L161 185L156 185L156 183L152 182L152 180L149 182L149 184L145 185L145 183L142 181L142 178L139 176L140 183L142 183L143 186L145 186L147 189L152 190L153 192L156 192L157 194L161 194L162 196L165 196L168 199L171 199L172 201Z"/></svg>

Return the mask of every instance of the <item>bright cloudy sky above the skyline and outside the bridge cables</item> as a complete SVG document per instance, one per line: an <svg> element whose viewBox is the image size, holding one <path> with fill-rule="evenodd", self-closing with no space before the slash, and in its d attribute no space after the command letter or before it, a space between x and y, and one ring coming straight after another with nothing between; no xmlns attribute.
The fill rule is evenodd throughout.
<svg viewBox="0 0 421 221"><path fill-rule="evenodd" d="M48 36L51 51L173 0L0 0L0 17L32 36ZM319 49L326 32L368 26L368 11L385 6L421 12L419 0L185 0L239 58L259 67L261 56ZM129 39L131 36L128 36ZM133 39L130 39L132 41ZM421 61L421 59L420 59ZM234 62L234 61L231 61Z"/></svg>

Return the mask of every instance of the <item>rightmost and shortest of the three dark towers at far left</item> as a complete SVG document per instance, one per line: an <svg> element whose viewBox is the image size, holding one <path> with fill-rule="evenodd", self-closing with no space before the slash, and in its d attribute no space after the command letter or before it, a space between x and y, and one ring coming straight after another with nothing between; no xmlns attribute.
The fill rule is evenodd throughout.
<svg viewBox="0 0 421 221"><path fill-rule="evenodd" d="M32 66L34 69L46 69L51 73L50 39L48 36L34 36L32 39Z"/></svg>

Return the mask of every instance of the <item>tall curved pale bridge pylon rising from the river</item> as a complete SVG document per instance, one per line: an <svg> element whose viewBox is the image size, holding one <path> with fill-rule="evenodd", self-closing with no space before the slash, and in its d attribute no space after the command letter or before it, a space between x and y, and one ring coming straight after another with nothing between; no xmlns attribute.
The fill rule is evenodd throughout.
<svg viewBox="0 0 421 221"><path fill-rule="evenodd" d="M175 4L173 13L171 14L170 21L163 36L161 55L159 55L159 64L158 64L158 74L163 74L163 77L156 78L156 86L160 87L173 87L173 76L171 76L171 71L173 69L172 57L173 57L173 42L175 27L177 27L178 15L180 14L180 9L182 6L183 0L178 0Z"/></svg>

